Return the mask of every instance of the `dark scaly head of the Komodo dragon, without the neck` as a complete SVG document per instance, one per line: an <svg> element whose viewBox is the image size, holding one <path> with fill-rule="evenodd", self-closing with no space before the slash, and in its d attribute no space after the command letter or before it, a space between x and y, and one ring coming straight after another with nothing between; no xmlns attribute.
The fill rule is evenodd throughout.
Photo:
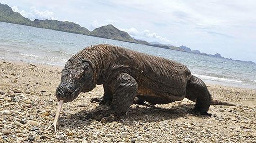
<svg viewBox="0 0 256 143"><path fill-rule="evenodd" d="M89 63L71 58L61 71L61 83L57 87L56 97L58 100L64 100L64 103L71 102L80 92L91 91L95 86L93 70Z"/></svg>

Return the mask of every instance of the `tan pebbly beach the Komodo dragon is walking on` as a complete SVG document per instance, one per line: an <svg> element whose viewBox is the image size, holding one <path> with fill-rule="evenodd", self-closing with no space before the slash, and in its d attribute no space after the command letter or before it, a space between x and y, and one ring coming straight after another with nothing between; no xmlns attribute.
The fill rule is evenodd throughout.
<svg viewBox="0 0 256 143"><path fill-rule="evenodd" d="M102 86L63 105L58 135L52 124L58 101L55 90L62 67L0 61L0 142L137 142L256 143L256 90L208 85L213 99L237 106L212 105L211 118L187 114L194 106L182 100L166 105L132 105L120 121L85 119L103 95Z"/></svg>

